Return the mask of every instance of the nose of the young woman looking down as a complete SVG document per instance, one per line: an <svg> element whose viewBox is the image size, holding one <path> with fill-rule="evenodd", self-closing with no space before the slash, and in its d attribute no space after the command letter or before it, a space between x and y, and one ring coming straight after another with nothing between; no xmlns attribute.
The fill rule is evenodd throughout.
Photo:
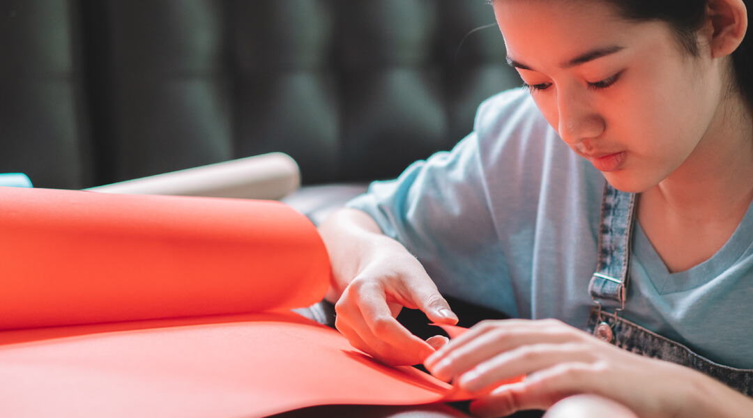
<svg viewBox="0 0 753 418"><path fill-rule="evenodd" d="M559 136L569 145L602 135L604 119L593 106L589 92L560 89L557 96Z"/></svg>

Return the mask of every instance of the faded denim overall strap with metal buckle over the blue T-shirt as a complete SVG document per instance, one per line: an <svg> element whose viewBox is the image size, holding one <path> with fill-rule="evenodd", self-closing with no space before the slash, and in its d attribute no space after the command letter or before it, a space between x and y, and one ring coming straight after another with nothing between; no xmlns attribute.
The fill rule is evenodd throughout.
<svg viewBox="0 0 753 418"><path fill-rule="evenodd" d="M588 285L591 298L599 305L600 301L617 301L625 307L635 211L635 193L620 192L606 183L599 228L599 263Z"/></svg>

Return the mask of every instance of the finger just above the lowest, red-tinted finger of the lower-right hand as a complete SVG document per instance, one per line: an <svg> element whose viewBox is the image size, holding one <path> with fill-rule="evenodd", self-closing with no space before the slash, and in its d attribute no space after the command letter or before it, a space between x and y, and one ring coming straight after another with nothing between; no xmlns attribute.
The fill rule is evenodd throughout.
<svg viewBox="0 0 753 418"><path fill-rule="evenodd" d="M584 344L537 344L501 353L458 377L458 386L478 392L505 380L533 374L555 365L590 363L593 354Z"/></svg>

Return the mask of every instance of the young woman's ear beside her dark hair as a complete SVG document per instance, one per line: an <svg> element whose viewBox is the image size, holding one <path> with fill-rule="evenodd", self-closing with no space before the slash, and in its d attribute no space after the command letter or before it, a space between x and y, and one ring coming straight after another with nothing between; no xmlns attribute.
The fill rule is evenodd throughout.
<svg viewBox="0 0 753 418"><path fill-rule="evenodd" d="M743 0L709 0L706 17L714 29L709 39L712 56L733 53L748 29L748 9Z"/></svg>

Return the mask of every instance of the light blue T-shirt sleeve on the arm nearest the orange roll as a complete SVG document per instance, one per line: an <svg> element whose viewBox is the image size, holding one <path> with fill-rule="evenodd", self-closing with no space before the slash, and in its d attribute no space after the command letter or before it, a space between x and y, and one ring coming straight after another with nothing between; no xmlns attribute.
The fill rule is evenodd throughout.
<svg viewBox="0 0 753 418"><path fill-rule="evenodd" d="M481 293L495 307L513 303L498 280L506 267L495 260L501 249L476 132L453 150L414 162L395 180L372 183L348 206L407 247L443 294L478 303Z"/></svg>

